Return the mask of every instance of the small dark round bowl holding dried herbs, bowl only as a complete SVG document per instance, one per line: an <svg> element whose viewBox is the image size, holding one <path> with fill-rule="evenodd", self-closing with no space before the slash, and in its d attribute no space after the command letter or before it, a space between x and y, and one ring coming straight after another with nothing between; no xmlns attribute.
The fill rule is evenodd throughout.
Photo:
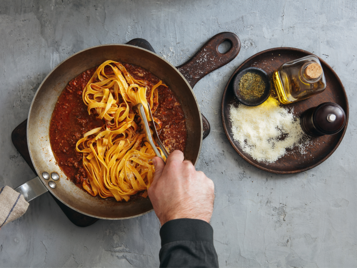
<svg viewBox="0 0 357 268"><path fill-rule="evenodd" d="M241 91L239 90L239 82L242 78L243 75L247 73L253 73L259 75L263 81L264 84L266 85L266 88L264 89L264 93L260 98L254 98L254 99L246 99L243 98L241 95ZM268 77L268 74L264 72L262 69L256 68L256 67L249 67L246 68L242 71L240 71L236 77L233 80L233 92L236 98L239 100L244 105L247 106L258 106L262 104L264 101L266 101L270 95L270 79Z"/></svg>

